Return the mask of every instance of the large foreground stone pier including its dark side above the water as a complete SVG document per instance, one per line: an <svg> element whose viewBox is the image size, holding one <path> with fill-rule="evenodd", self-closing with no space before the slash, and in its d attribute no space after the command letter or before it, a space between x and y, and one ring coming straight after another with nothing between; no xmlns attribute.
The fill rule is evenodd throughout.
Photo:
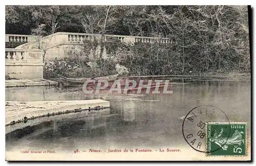
<svg viewBox="0 0 256 166"><path fill-rule="evenodd" d="M99 108L99 107L110 107L109 101L104 101L100 99L95 100L72 100L72 101L6 101L5 110L5 124L8 125L11 122L17 122L19 120L24 120L24 118L31 118L40 115L52 114L57 112L65 112L67 110L75 109L88 109L88 108ZM83 112L93 113L93 112L104 112L106 109L99 110L86 110ZM45 116L40 118L35 118L34 120L29 120L27 122L20 122L14 125L6 126L6 133L12 132L14 130L24 128L26 126L33 126L35 124L41 123L42 121L52 120L53 118L58 118L59 116L78 116L78 113L63 113L61 115Z"/></svg>

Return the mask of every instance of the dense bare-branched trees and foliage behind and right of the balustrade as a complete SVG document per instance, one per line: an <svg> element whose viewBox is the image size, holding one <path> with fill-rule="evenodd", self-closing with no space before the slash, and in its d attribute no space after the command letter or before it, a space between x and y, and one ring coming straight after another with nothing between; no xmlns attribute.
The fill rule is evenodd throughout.
<svg viewBox="0 0 256 166"><path fill-rule="evenodd" d="M6 33L31 34L37 25L45 24L50 34L56 23L62 32L176 41L175 46L124 47L127 55L120 64L128 65L132 74L250 71L247 6L6 6ZM118 52L115 44L111 48L99 43L112 55Z"/></svg>

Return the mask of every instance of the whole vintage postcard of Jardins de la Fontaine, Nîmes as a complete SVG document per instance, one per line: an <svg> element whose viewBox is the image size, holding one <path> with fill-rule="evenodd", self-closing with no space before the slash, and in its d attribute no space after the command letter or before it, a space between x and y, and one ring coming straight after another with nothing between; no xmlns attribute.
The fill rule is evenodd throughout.
<svg viewBox="0 0 256 166"><path fill-rule="evenodd" d="M5 6L6 160L251 160L250 13Z"/></svg>

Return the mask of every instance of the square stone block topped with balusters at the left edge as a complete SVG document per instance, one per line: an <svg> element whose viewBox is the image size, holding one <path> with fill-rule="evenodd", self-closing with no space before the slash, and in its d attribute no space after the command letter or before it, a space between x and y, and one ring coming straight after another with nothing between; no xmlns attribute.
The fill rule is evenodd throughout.
<svg viewBox="0 0 256 166"><path fill-rule="evenodd" d="M42 79L42 56L39 49L5 49L5 72L15 79Z"/></svg>

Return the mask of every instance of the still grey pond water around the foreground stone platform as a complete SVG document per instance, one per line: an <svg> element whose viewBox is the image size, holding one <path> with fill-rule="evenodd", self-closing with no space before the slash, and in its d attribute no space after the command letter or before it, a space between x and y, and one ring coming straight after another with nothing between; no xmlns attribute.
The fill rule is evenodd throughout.
<svg viewBox="0 0 256 166"><path fill-rule="evenodd" d="M81 87L6 88L6 101L103 99L109 110L68 115L6 134L6 150L71 151L90 148L184 146L182 119L191 109L213 105L230 121L247 122L250 134L250 81L189 81L173 85L173 94L87 96ZM73 151L72 151L73 152Z"/></svg>

